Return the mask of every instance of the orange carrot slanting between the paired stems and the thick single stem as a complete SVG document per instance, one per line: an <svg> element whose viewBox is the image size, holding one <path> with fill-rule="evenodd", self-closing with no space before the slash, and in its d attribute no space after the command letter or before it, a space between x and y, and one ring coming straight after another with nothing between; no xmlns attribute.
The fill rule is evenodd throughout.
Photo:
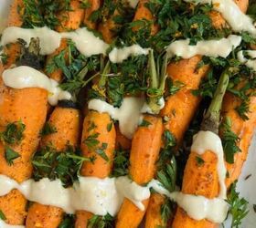
<svg viewBox="0 0 256 228"><path fill-rule="evenodd" d="M168 76L174 83L178 81L184 84L184 87L166 100L165 108L161 110L161 116L169 118L165 128L174 134L177 144L181 142L201 99L191 92L192 89L199 88L201 79L208 72L208 66L197 69L201 58L196 56L183 59L167 67Z"/></svg>

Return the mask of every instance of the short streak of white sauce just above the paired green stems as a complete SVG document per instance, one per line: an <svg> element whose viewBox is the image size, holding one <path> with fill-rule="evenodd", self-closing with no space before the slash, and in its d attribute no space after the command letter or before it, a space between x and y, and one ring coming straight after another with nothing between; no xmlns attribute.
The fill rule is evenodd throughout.
<svg viewBox="0 0 256 228"><path fill-rule="evenodd" d="M148 55L149 48L143 48L139 45L130 47L116 48L114 47L109 54L112 63L122 63L123 60L131 56Z"/></svg>

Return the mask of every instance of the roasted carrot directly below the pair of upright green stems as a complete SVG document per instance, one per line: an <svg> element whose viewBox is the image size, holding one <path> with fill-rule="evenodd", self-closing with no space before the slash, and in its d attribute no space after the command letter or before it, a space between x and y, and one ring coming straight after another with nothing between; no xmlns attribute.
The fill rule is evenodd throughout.
<svg viewBox="0 0 256 228"><path fill-rule="evenodd" d="M129 174L133 181L145 184L155 176L155 162L161 147L163 123L161 118L145 116L144 120L150 123L147 127L136 130L130 155ZM144 201L147 208L149 200ZM142 222L145 211L140 211L133 202L124 199L123 205L117 215L117 228L135 228Z"/></svg>

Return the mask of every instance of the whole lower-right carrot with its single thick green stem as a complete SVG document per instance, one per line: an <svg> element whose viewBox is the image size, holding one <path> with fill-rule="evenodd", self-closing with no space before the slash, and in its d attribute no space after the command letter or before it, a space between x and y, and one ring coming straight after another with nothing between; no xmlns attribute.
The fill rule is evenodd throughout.
<svg viewBox="0 0 256 228"><path fill-rule="evenodd" d="M221 103L228 84L229 71L225 70L219 79L218 88L201 124L202 131L199 131L199 133L207 131L211 131L215 134L219 133ZM204 142L202 141L201 143ZM198 151L192 150L187 160L182 183L182 192L186 194L202 195L208 199L218 197L220 193L223 196L223 194L226 194L226 189L223 189L222 177L217 168L218 162L221 162L219 156L223 155L217 155L216 151L211 150L200 152L200 154L197 152ZM198 163L198 158L202 162ZM200 221L194 220L187 215L187 212L178 208L172 226L174 228L218 227L219 224L211 223L207 219Z"/></svg>

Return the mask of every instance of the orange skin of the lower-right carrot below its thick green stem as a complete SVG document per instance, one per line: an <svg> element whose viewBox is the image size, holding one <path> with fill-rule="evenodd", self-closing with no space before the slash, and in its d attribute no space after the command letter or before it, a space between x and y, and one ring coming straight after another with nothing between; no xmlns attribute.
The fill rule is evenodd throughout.
<svg viewBox="0 0 256 228"><path fill-rule="evenodd" d="M197 152L194 151L189 155L184 172L182 192L186 194L202 195L209 199L217 197L219 195L218 158L213 152L209 150L205 151L200 156L205 162L198 165L197 156ZM173 228L215 228L218 226L219 224L210 223L206 219L196 221L190 218L187 213L180 208L178 208L174 223L172 224Z"/></svg>

